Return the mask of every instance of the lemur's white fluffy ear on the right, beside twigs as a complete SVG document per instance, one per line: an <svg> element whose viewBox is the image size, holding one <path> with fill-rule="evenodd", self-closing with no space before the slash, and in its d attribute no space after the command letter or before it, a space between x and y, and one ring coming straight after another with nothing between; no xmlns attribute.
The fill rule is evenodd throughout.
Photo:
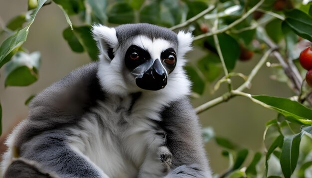
<svg viewBox="0 0 312 178"><path fill-rule="evenodd" d="M191 32L179 31L177 34L178 54L182 57L192 49L193 35Z"/></svg>

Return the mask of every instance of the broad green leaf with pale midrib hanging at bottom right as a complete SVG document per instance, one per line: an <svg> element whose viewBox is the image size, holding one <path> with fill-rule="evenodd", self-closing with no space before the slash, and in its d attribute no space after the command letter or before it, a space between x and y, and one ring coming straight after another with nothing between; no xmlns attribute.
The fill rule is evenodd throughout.
<svg viewBox="0 0 312 178"><path fill-rule="evenodd" d="M290 178L297 166L300 141L300 133L284 137L280 163L285 178Z"/></svg>

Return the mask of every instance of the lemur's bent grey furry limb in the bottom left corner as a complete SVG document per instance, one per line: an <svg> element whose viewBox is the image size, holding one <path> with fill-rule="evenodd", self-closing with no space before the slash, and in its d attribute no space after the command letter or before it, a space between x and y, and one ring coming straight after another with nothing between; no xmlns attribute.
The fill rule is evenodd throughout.
<svg viewBox="0 0 312 178"><path fill-rule="evenodd" d="M25 142L4 178L109 178L66 141L65 130L43 132Z"/></svg>

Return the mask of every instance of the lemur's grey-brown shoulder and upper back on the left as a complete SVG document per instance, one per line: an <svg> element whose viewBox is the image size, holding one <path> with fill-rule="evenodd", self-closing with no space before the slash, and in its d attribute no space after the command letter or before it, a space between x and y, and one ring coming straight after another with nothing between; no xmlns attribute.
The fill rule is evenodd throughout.
<svg viewBox="0 0 312 178"><path fill-rule="evenodd" d="M29 115L20 127L16 144L40 132L75 124L97 101L104 100L97 70L98 62L87 64L38 93L29 104Z"/></svg>

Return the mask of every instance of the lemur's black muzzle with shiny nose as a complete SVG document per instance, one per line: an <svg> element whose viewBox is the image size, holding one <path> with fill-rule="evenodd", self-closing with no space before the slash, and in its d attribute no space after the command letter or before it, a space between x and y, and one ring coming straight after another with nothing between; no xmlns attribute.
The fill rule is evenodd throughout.
<svg viewBox="0 0 312 178"><path fill-rule="evenodd" d="M143 74L136 78L136 84L141 89L158 90L167 85L167 73L162 67L159 59Z"/></svg>

